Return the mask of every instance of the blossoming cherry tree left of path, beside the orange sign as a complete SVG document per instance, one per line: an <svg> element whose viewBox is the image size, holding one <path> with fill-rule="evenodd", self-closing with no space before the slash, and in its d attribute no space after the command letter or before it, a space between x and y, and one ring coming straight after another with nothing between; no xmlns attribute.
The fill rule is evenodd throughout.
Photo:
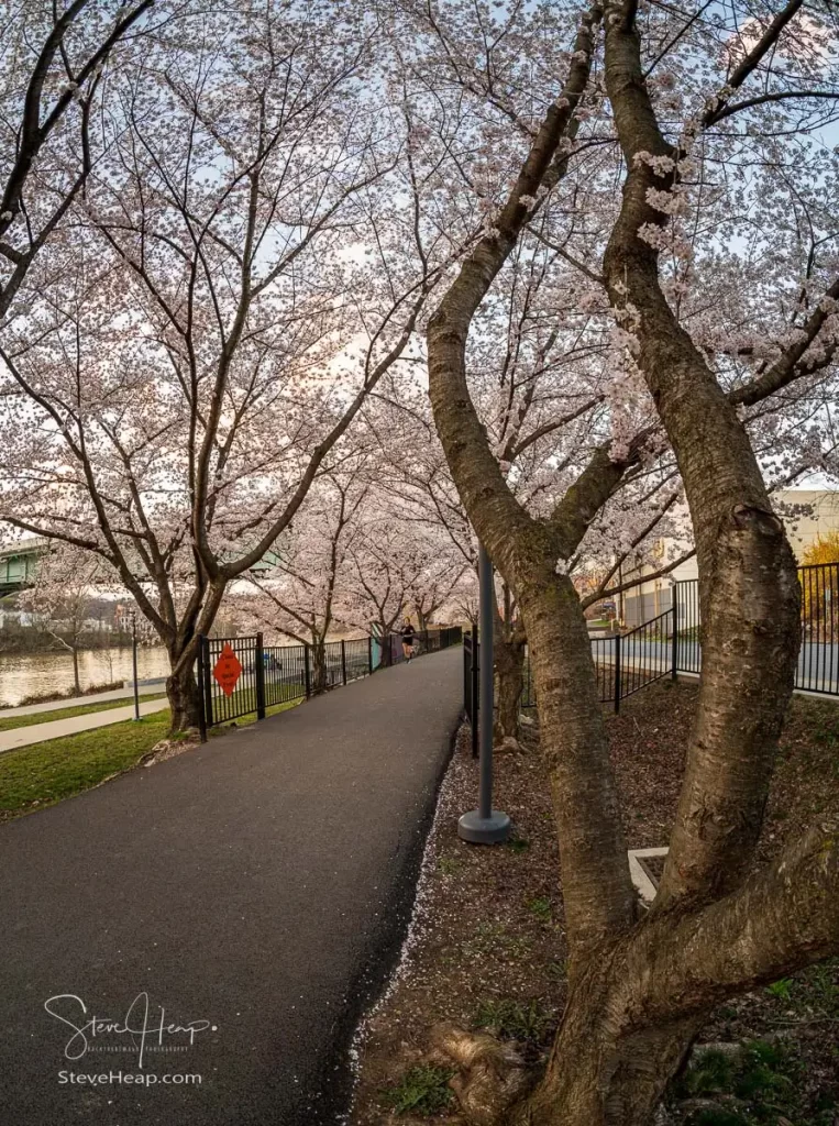
<svg viewBox="0 0 839 1126"><path fill-rule="evenodd" d="M116 568L168 649L173 730L197 722L225 589L298 513L450 258L414 223L371 50L351 5L161 32L109 87L104 155L7 331L0 515Z"/></svg>

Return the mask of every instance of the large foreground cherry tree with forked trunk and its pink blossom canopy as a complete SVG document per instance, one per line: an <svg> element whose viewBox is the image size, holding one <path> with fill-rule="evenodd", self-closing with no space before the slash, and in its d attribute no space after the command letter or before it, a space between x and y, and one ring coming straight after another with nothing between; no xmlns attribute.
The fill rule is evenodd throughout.
<svg viewBox="0 0 839 1126"><path fill-rule="evenodd" d="M716 1003L839 949L836 816L756 861L798 644L795 562L768 486L836 466L836 158L819 134L837 111L836 28L828 7L806 20L801 7L613 0L480 8L467 23L458 5L409 6L430 59L414 54L414 117L425 107L439 138L439 99L425 96L444 74L474 99L483 140L480 169L450 173L487 218L430 320L429 390L470 522L526 628L569 944L569 1001L535 1085L490 1039L441 1035L475 1121L649 1123ZM538 498L517 492L473 361L484 311L536 243L556 253L560 347L593 333L606 360L592 388L605 432L592 427L568 463L554 452L545 473L561 473ZM654 485L669 511L675 471L703 676L662 884L639 919L570 571L616 498Z"/></svg>

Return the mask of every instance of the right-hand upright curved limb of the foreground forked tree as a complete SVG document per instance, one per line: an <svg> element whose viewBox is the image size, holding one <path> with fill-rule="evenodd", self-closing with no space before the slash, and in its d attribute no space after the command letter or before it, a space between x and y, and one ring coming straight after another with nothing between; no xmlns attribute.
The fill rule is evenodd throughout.
<svg viewBox="0 0 839 1126"><path fill-rule="evenodd" d="M670 309L658 251L639 233L667 226L666 213L649 200L672 189L680 153L652 110L634 8L615 5L605 73L628 171L604 274L676 453L699 569L699 700L660 909L682 895L724 894L751 866L793 690L798 581L737 409ZM655 171L643 154L670 171Z"/></svg>

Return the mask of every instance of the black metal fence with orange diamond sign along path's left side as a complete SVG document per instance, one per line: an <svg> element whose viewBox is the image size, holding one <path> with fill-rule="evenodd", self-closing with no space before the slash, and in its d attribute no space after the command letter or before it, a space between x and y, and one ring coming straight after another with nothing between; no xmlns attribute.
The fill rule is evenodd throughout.
<svg viewBox="0 0 839 1126"><path fill-rule="evenodd" d="M459 626L417 629L413 653L437 653L461 642ZM265 645L262 634L200 637L198 685L202 739L221 723L292 700L306 699L338 685L367 677L405 660L400 634L355 637L323 645Z"/></svg>

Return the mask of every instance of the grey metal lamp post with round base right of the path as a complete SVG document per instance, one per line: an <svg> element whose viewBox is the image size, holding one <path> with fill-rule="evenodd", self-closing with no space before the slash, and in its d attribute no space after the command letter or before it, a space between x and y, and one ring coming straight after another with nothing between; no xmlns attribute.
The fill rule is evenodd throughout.
<svg viewBox="0 0 839 1126"><path fill-rule="evenodd" d="M481 745L480 783L477 808L464 813L457 822L457 835L473 844L498 844L507 840L510 819L500 810L492 808L492 717L493 717L493 659L492 619L493 600L492 560L483 544L477 554L477 583L480 590L477 635L479 671L481 690L479 694L477 722ZM474 643L474 640L473 640ZM474 709L473 709L474 711Z"/></svg>

